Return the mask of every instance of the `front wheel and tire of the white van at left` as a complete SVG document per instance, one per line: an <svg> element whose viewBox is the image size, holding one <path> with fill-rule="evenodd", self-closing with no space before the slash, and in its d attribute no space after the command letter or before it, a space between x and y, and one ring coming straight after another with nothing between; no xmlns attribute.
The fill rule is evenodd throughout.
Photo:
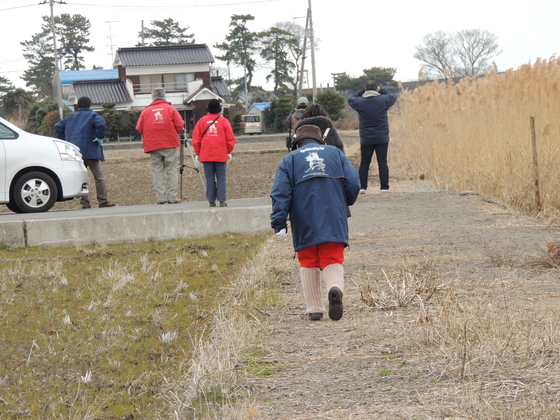
<svg viewBox="0 0 560 420"><path fill-rule="evenodd" d="M18 213L38 213L54 206L58 189L53 179L43 172L27 172L14 184L12 193Z"/></svg>

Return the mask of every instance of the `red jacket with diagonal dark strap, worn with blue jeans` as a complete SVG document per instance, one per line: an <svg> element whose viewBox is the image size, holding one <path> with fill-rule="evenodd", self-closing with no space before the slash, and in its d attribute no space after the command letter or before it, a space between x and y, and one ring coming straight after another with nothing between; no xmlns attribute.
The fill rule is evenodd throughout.
<svg viewBox="0 0 560 420"><path fill-rule="evenodd" d="M206 114L196 123L192 145L194 154L201 162L227 162L228 155L235 147L235 135L230 122L220 114Z"/></svg>

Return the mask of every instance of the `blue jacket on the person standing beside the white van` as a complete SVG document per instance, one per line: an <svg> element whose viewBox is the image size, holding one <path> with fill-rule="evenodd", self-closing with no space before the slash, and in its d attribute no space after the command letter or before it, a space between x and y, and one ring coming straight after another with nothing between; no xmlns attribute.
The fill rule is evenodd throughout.
<svg viewBox="0 0 560 420"><path fill-rule="evenodd" d="M93 140L105 137L105 119L90 108L78 108L54 125L56 135L80 148L84 159L105 160L103 147Z"/></svg>

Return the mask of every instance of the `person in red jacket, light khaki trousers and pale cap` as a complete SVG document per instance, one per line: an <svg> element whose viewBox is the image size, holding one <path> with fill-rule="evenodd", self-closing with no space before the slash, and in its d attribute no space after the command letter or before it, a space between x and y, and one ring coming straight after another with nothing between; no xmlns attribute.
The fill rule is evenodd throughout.
<svg viewBox="0 0 560 420"><path fill-rule="evenodd" d="M144 153L150 154L152 179L158 204L175 204L179 194L178 150L179 133L183 131L183 118L179 111L165 100L165 90L152 91L152 103L138 118L136 130L142 134ZM167 175L167 180L165 179Z"/></svg>

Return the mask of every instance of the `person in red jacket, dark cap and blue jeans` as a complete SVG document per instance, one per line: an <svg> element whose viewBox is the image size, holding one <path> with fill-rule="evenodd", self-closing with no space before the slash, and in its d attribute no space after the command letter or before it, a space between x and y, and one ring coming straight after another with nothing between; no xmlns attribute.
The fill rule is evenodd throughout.
<svg viewBox="0 0 560 420"><path fill-rule="evenodd" d="M221 115L217 99L208 102L208 114L196 123L192 145L196 159L202 162L206 176L206 198L210 207L226 207L226 164L231 160L235 136L230 122Z"/></svg>

